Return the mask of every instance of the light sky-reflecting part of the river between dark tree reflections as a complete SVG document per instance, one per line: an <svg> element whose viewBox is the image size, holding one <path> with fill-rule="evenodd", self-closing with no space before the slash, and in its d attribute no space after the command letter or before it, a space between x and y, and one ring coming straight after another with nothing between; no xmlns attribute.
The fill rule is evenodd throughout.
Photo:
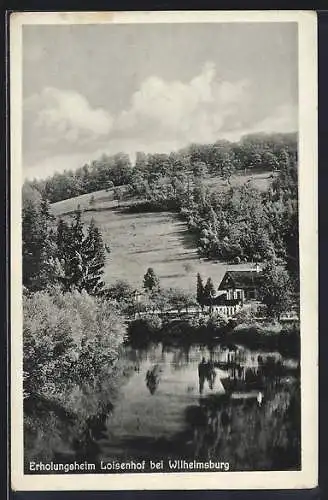
<svg viewBox="0 0 328 500"><path fill-rule="evenodd" d="M242 366L255 370L259 359L263 363L271 358L291 369L297 365L291 359L282 358L278 352L253 352L241 346L237 351L221 345L169 347L159 343L146 349L127 346L123 359L131 375L106 418L102 438L98 441L99 457L104 461L150 457L218 459L219 450L213 449L213 443L206 446L204 439L214 438L215 434L217 440L222 406L231 409L233 398L234 408L244 408L245 401L249 401L255 412L262 411L256 398L258 391L245 394L236 391L230 401L226 401L221 382L221 377L226 377L226 370L216 368L213 384L205 380L200 388L198 366L203 358L220 364L232 357L237 357ZM274 401L277 392L274 390L268 397Z"/></svg>

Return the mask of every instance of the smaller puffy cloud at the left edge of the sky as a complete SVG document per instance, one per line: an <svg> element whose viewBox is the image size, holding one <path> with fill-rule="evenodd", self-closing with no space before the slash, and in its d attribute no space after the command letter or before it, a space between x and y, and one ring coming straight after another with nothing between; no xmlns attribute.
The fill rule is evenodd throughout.
<svg viewBox="0 0 328 500"><path fill-rule="evenodd" d="M44 88L24 103L26 122L42 134L46 143L91 141L107 135L112 117L101 108L92 108L87 99L72 90Z"/></svg>

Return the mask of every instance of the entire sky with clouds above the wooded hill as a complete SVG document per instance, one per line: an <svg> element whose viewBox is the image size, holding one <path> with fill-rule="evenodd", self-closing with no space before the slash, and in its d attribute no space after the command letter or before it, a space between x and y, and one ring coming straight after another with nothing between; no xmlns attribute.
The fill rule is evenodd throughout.
<svg viewBox="0 0 328 500"><path fill-rule="evenodd" d="M23 169L298 129L296 23L23 27Z"/></svg>

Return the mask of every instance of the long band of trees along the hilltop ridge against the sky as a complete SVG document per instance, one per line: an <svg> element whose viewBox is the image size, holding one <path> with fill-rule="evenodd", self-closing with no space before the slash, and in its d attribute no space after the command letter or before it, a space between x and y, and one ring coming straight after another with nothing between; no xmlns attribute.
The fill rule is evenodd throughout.
<svg viewBox="0 0 328 500"><path fill-rule="evenodd" d="M245 169L279 170L287 159L296 155L296 134L256 134L245 136L239 142L191 144L170 154L138 152L134 164L125 153L104 154L76 171L65 170L28 184L50 203L121 185L129 185L133 192L147 196L160 178L178 181L181 175L209 174L229 182L235 172Z"/></svg>

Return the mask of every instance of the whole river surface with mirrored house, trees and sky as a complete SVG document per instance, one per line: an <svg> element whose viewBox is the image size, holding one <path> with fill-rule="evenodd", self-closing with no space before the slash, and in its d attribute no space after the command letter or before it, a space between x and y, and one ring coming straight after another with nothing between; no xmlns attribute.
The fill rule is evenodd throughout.
<svg viewBox="0 0 328 500"><path fill-rule="evenodd" d="M158 343L125 346L120 365L116 393L94 395L101 411L70 424L69 439L60 416L42 426L52 433L48 459L56 435L53 456L66 460L221 458L244 470L274 467L279 449L297 462L297 361L242 346Z"/></svg>

